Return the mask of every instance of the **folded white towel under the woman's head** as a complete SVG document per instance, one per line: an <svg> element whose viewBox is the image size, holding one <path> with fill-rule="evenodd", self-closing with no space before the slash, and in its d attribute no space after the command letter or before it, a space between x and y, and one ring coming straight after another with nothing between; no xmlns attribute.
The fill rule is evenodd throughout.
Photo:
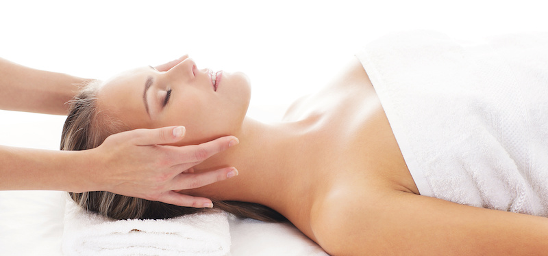
<svg viewBox="0 0 548 256"><path fill-rule="evenodd" d="M86 212L67 199L64 255L219 255L230 253L224 212L166 220L114 221Z"/></svg>

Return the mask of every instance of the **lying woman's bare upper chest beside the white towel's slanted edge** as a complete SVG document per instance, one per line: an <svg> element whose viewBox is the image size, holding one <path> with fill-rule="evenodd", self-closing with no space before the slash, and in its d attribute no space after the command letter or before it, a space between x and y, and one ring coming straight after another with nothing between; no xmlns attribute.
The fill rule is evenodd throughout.
<svg viewBox="0 0 548 256"><path fill-rule="evenodd" d="M382 104L359 61L351 62L318 93L295 103L285 119L310 119L313 125L307 142L312 146L308 150L314 151L310 154L313 160L333 180L348 182L363 175L416 191Z"/></svg>

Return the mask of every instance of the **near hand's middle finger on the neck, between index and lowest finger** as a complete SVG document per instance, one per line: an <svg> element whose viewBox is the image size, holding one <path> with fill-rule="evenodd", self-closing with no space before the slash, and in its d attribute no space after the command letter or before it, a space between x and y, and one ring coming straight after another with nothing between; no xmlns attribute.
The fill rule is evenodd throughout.
<svg viewBox="0 0 548 256"><path fill-rule="evenodd" d="M170 190L199 188L238 175L234 167L225 167L205 173L181 173L173 178Z"/></svg>

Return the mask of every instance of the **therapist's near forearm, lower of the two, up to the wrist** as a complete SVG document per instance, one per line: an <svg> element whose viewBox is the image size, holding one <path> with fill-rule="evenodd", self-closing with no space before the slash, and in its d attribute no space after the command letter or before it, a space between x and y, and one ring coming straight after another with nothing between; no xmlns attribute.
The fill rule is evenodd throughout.
<svg viewBox="0 0 548 256"><path fill-rule="evenodd" d="M0 190L94 190L85 154L0 145Z"/></svg>

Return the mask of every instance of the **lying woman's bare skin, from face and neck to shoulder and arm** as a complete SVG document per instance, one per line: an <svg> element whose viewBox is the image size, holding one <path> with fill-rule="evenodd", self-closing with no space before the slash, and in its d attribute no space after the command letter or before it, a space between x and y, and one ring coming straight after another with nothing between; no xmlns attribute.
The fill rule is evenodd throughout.
<svg viewBox="0 0 548 256"><path fill-rule="evenodd" d="M172 87L170 102L147 116L148 76ZM534 255L548 251L548 221L424 197L401 156L388 119L357 59L315 94L288 109L283 122L243 117L249 82L223 74L212 89L206 70L183 61L168 72L138 68L101 88L103 111L133 128L201 127L192 141L234 134L238 147L194 171L224 166L240 175L182 193L262 203L284 214L331 255ZM188 109L192 111L188 112ZM205 115L205 116L204 116ZM195 129L193 129L195 130ZM189 134L190 137L190 134Z"/></svg>

